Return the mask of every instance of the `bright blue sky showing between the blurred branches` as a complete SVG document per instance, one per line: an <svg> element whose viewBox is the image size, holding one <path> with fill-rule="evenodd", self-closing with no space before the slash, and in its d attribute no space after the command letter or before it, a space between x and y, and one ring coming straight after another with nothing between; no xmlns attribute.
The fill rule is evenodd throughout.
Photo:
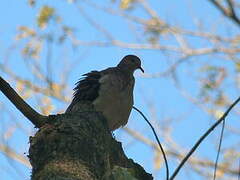
<svg viewBox="0 0 240 180"><path fill-rule="evenodd" d="M204 21L205 25L210 25L213 22L221 27L215 29L218 34L227 33L238 33L237 29L231 28L227 29L225 26L221 26L221 20L219 19L219 12L211 6L207 1L191 1L191 0L172 0L172 1L161 1L161 6L158 1L149 1L155 11L158 12L159 16L164 17L165 21L169 24L179 25L186 29L195 29L198 22ZM106 1L106 3L109 3ZM30 8L27 1L1 1L0 2L0 62L7 63L11 71L21 76L35 82L34 77L29 76L28 66L26 62L23 62L23 57L21 56L19 49L23 46L21 43L16 43L15 37L18 33L19 26L29 26L31 28L37 28L36 16L38 15L39 8L42 5L49 5L56 8L56 12L62 17L62 21L66 25L72 27L78 27L76 30L76 35L78 39L91 41L91 40L104 40L105 37L102 33L97 32L84 17L81 17L79 10L76 6L71 3L66 3L66 1L44 1L37 3L37 6ZM107 13L102 11L96 11L95 9L87 6L86 4L79 3L81 8L84 9L90 17L96 19L99 24L101 24L106 29L112 32L114 37L124 41L124 42L145 42L145 39L141 37L140 33L138 35L138 29L129 28L130 23L121 17L109 16ZM147 17L145 13L139 8L133 12L133 14L141 17ZM218 19L216 19L218 18ZM219 23L218 23L219 21ZM228 24L228 23L226 23ZM231 24L231 22L229 22ZM227 27L227 26L226 26ZM207 29L207 27L202 27ZM214 29L214 27L213 27ZM136 30L136 31L135 31ZM45 32L49 33L59 31L59 28L52 25ZM140 30L139 30L140 31ZM60 32L59 32L60 33ZM162 43L168 43L169 45L174 44L172 39L162 39ZM191 45L193 47L199 47L204 45L205 42L199 41L197 38L191 39ZM206 44L206 43L205 43ZM67 92L72 94L72 88L74 88L74 83L80 78L80 76L91 70L102 70L107 67L115 66L120 61L120 59L127 54L138 55L143 64L146 74L153 74L157 72L163 72L167 69L169 61L173 61L171 58L177 57L178 54L172 54L171 56L165 52L159 52L156 50L133 50L121 47L71 47L69 42L64 43L61 46L53 45L52 63L51 66L54 69L52 78L54 81L59 82L64 77L64 73L61 72L62 61L69 61L69 59L77 62L77 65L71 71L70 78L68 79ZM41 54L42 64L44 67L44 59L46 58L46 49L43 49ZM6 62L4 57L8 56L8 61ZM194 61L194 58L191 59ZM59 62L61 61L61 63ZM198 76L199 67L206 63L218 64L219 66L224 66L229 68L231 71L232 66L230 62L224 62L224 64L219 64L217 60L212 57L202 57L202 60L196 65L192 63L186 63L181 65L177 70L177 75L181 86L186 88L192 96L197 96L198 89L200 87L199 82L196 82L194 77ZM12 86L13 81L8 79L8 77L2 73L3 76ZM195 74L194 74L195 73ZM186 150L186 152L192 147L196 140L206 131L206 129L213 124L214 118L210 117L199 107L193 105L191 102L187 101L175 88L174 82L171 78L146 78L141 74L140 71L135 73L136 85L134 90L135 96L135 106L143 111L143 113L148 117L152 117L152 113L156 115L155 120L157 123L164 123L163 120L167 118L177 120L172 123L172 133L173 138L176 142L181 144L181 146ZM36 82L39 83L39 82ZM227 90L231 91L231 90ZM232 91L232 98L237 97L237 92ZM0 131L4 132L6 127L14 124L16 121L20 126L24 127L25 132L16 129L14 130L13 136L8 139L6 143L10 147L17 149L17 152L27 156L28 154L28 135L33 135L36 130L33 129L31 123L19 112L16 108L7 100L5 96L0 94L0 102L7 107L9 112L14 112L14 117L9 116L7 112L3 113L0 118L1 127ZM35 109L38 109L38 105L34 98L27 99L27 102L31 104ZM57 113L59 111L64 111L67 108L67 103L62 103L57 100L52 99L54 104L54 110L52 113ZM156 112L150 112L149 106L153 106ZM184 121L180 119L184 118ZM229 115L231 119L231 115ZM150 119L153 120L154 119ZM232 117L231 120L235 120ZM153 125L156 125L156 122ZM236 124L239 127L239 123ZM150 128L144 122L143 118L136 112L132 111L131 117L127 127L134 130L139 130L144 133L144 135L150 139L154 140L153 134ZM217 130L200 146L196 154L201 154L201 157L207 157L210 159L215 159L215 142L216 137L219 135L220 129ZM161 140L161 132L157 132ZM164 179L165 168L155 171L153 167L153 151L150 147L145 146L141 142L134 141L133 138L129 137L123 130L115 131L115 136L118 141L121 141L125 150L127 157L132 158L135 162L139 163L144 169L152 173L155 179ZM3 140L3 138L2 138ZM233 140L234 141L234 140ZM226 142L224 142L226 143ZM167 146L167 142L163 142L164 146ZM170 174L176 167L176 162L169 160L170 164ZM163 166L163 165L162 165ZM186 168L188 165L186 165ZM22 166L22 164L8 159L3 153L0 152L0 179L12 180L12 179L30 179L31 170ZM188 174L187 171L181 171L176 179L200 179L195 174Z"/></svg>

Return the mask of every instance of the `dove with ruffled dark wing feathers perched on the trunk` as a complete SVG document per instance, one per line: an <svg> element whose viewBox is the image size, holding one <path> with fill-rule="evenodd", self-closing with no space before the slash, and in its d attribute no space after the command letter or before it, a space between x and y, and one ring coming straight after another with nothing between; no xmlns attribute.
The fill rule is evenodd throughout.
<svg viewBox="0 0 240 180"><path fill-rule="evenodd" d="M74 113L81 103L90 102L96 111L103 114L110 131L125 126L134 104L133 73L137 69L144 73L140 58L127 55L116 67L83 74L75 84L72 102L65 113Z"/></svg>

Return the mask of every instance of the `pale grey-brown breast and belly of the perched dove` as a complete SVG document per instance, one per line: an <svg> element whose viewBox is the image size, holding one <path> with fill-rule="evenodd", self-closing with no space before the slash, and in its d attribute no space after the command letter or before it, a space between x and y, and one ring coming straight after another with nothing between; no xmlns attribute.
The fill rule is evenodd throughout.
<svg viewBox="0 0 240 180"><path fill-rule="evenodd" d="M99 96L93 104L103 113L113 131L128 121L133 106L134 79L126 82L123 78L105 76L100 83Z"/></svg>

